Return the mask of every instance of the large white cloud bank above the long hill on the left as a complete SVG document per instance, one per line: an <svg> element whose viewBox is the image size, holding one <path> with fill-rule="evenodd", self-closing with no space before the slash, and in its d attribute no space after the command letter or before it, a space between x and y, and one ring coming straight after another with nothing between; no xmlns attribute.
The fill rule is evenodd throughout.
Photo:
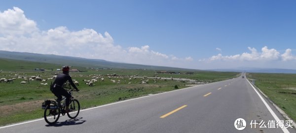
<svg viewBox="0 0 296 133"><path fill-rule="evenodd" d="M182 66L193 61L191 57L178 58L142 47L122 48L115 45L108 32L97 33L93 29L70 31L57 27L40 31L37 23L26 18L18 7L0 12L0 50L66 55L114 62L157 66Z"/></svg>

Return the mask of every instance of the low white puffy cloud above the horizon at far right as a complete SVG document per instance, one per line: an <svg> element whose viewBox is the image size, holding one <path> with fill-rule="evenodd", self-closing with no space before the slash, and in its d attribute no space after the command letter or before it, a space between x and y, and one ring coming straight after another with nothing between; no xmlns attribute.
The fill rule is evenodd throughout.
<svg viewBox="0 0 296 133"><path fill-rule="evenodd" d="M245 52L242 54L231 55L231 56L222 56L222 54L218 54L216 56L212 56L209 59L199 60L200 62L204 61L288 61L288 60L296 60L296 56L292 55L292 50L287 49L284 54L280 54L276 49L268 49L267 46L261 48L262 52L257 52L255 48L248 47L251 53Z"/></svg>

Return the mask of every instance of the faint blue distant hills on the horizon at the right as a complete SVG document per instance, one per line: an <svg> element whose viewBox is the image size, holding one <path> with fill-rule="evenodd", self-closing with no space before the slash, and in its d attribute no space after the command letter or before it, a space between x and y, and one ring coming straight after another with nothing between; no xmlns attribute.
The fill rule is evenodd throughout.
<svg viewBox="0 0 296 133"><path fill-rule="evenodd" d="M233 72L256 72L256 73L296 73L295 69L281 68L252 68L252 67L237 67L231 69L209 69L214 71L233 71Z"/></svg>

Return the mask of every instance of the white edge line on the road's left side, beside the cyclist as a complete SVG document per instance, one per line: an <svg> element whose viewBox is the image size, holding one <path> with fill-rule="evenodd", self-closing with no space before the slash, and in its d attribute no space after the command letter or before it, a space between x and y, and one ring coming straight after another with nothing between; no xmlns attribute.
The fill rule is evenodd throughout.
<svg viewBox="0 0 296 133"><path fill-rule="evenodd" d="M227 80L231 80L231 79L227 79ZM208 84L203 84L203 85L198 85L198 86L204 86L204 85L209 85L209 84L214 84L214 83L219 83L219 82L225 82L227 80L213 82L213 83L208 83ZM156 96L156 95L160 95L160 94L171 93L171 92L175 92L175 91L181 91L181 90L184 90L184 89L191 89L191 88L194 88L194 87L197 87L197 86L187 87L187 88L183 88L183 89L179 89L179 90L174 90L174 91L169 91L169 92L164 92L164 93L158 93L158 94L148 95L148 96L139 97L139 98L130 99L130 100L137 100L137 99L152 97L152 96ZM121 102L126 102L126 101L130 101L130 100L123 100L123 101L113 102L113 103L109 103L109 104L105 104L105 105L101 105L101 106L97 106L97 107L87 108L87 109L80 110L80 112L86 111L86 110L90 110L90 109L99 108L99 107L109 106L109 105L113 105L113 104L117 104L117 103L121 103ZM36 120L32 120L32 121L27 121L27 122L22 122L22 123L17 123L17 124L12 124L12 125L8 125L8 126L0 127L0 129L12 127L12 126L17 126L17 125L22 125L22 124L26 124L26 123L31 123L31 122L36 122L36 121L40 121L40 120L44 120L44 118L36 119Z"/></svg>

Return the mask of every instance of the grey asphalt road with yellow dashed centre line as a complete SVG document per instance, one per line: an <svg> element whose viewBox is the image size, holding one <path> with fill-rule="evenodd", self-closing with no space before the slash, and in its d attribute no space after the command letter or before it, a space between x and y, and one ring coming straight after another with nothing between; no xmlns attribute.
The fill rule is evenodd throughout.
<svg viewBox="0 0 296 133"><path fill-rule="evenodd" d="M77 119L65 115L53 126L38 119L0 127L0 133L296 133L277 123L269 128L272 120L286 121L268 101L267 106L271 111L239 77L82 110ZM242 131L235 128L238 118L246 121Z"/></svg>

